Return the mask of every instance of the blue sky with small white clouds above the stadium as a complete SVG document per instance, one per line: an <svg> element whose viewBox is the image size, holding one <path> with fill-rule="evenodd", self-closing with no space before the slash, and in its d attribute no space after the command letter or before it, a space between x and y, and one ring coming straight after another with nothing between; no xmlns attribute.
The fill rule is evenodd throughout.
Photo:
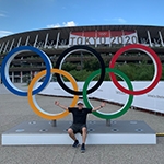
<svg viewBox="0 0 164 164"><path fill-rule="evenodd" d="M84 25L164 26L164 0L0 0L0 37Z"/></svg>

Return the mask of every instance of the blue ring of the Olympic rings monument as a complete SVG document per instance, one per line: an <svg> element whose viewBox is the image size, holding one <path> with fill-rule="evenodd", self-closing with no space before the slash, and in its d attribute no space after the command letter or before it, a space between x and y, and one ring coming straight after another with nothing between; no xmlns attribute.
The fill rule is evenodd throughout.
<svg viewBox="0 0 164 164"><path fill-rule="evenodd" d="M37 89L35 89L33 91L33 95L37 94L38 92L44 90L47 86L47 84L49 83L50 79L51 79L50 70L52 69L52 66L51 66L51 62L50 62L48 56L44 51L42 51L42 50L39 50L35 47L32 47L32 46L21 46L21 47L12 49L5 56L5 58L2 61L1 77L2 77L2 82L7 86L7 89L10 92L12 92L13 94L16 94L19 96L27 96L27 92L22 91L20 89L16 89L13 85L13 83L11 82L10 77L9 77L9 67L10 67L11 61L14 59L14 57L16 55L21 54L21 52L24 52L24 51L33 51L33 52L39 55L43 58L43 60L45 61L45 65L46 65L46 71L47 72L46 72L46 75L45 75L45 80L42 83L42 85L39 85Z"/></svg>

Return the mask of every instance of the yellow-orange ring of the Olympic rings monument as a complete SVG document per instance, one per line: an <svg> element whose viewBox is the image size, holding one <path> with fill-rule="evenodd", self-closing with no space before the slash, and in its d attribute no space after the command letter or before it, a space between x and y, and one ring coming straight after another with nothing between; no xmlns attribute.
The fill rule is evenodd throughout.
<svg viewBox="0 0 164 164"><path fill-rule="evenodd" d="M59 73L59 74L65 75L72 83L72 86L73 86L74 91L78 91L78 84L77 84L75 80L72 78L71 74L69 74L68 72L66 72L63 70L59 70L59 69L51 69L50 72L51 73ZM36 99L35 99L35 95L32 94L35 83L38 82L45 74L46 74L46 70L44 70L44 71L39 72L38 74L36 74L33 78L33 80L31 81L30 86L28 86L28 92L27 92L28 104L32 107L32 109L34 110L34 113L36 113L38 116L40 116L45 119L56 120L56 119L63 118L69 114L68 110L65 110L65 112L59 113L59 114L49 114L49 113L43 110L38 106L38 104L36 103ZM79 96L74 95L70 107L74 107L77 105L78 99L79 99Z"/></svg>

